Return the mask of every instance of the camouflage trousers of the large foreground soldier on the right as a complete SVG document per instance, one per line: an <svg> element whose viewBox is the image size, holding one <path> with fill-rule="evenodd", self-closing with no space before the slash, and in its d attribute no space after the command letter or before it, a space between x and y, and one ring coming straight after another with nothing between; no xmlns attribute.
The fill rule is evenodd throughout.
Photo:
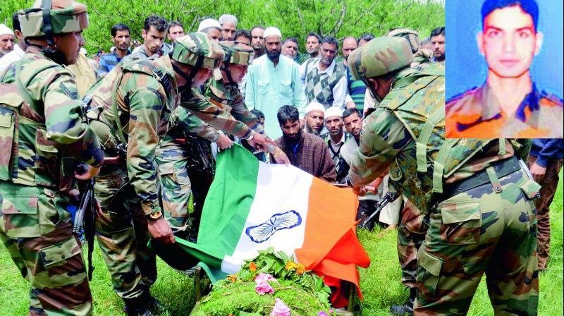
<svg viewBox="0 0 564 316"><path fill-rule="evenodd" d="M539 186L525 169L496 182L443 200L430 214L417 253L415 315L466 315L484 273L496 315L537 315Z"/></svg>

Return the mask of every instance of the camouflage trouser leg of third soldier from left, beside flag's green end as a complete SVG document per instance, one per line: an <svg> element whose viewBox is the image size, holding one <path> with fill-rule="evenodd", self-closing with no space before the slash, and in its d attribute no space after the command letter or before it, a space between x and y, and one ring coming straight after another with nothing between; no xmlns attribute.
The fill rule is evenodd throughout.
<svg viewBox="0 0 564 316"><path fill-rule="evenodd" d="M188 177L190 162L185 147L173 141L163 141L154 159L159 166L164 217L173 231L185 231L189 226L192 185Z"/></svg>

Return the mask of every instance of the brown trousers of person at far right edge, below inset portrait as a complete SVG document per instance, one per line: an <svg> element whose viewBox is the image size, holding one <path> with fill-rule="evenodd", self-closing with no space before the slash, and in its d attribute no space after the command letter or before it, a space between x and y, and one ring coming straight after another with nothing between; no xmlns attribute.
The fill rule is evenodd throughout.
<svg viewBox="0 0 564 316"><path fill-rule="evenodd" d="M529 167L537 161L536 157L529 156ZM541 188L541 197L535 201L537 206L538 236L537 236L537 254L539 257L539 270L546 269L548 255L551 250L551 218L550 207L558 187L558 173L562 168L563 159L551 159L546 166L546 173L539 183Z"/></svg>

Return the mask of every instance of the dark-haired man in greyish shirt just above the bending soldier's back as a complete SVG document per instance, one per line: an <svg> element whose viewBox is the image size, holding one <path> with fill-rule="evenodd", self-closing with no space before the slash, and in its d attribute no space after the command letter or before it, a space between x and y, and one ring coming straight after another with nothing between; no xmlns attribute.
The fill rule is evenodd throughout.
<svg viewBox="0 0 564 316"><path fill-rule="evenodd" d="M167 28L168 23L165 18L161 16L148 16L141 31L143 44L134 49L133 54L125 57L123 62L126 63L153 55L163 56L168 54L168 51L164 49L164 37L166 36Z"/></svg>

